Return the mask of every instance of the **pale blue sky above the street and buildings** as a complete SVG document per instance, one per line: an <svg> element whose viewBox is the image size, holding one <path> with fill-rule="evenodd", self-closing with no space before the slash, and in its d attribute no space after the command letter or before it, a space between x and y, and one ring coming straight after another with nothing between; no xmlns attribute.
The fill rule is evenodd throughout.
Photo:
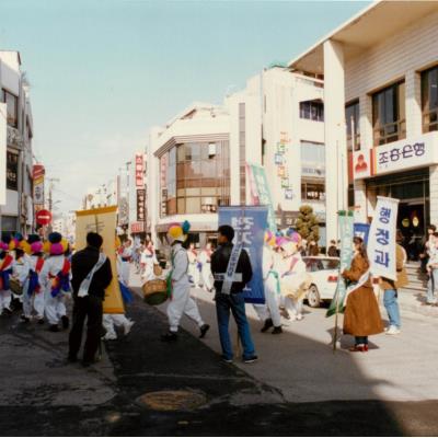
<svg viewBox="0 0 438 438"><path fill-rule="evenodd" d="M33 148L67 212L107 183L150 127L220 104L288 62L365 1L0 0L0 49L31 82Z"/></svg>

